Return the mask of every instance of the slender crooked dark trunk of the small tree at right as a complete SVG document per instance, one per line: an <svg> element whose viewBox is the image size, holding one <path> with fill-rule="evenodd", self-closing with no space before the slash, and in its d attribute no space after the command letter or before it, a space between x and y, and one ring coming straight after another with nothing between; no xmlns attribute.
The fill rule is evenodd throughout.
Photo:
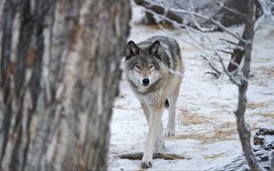
<svg viewBox="0 0 274 171"><path fill-rule="evenodd" d="M247 108L247 90L248 90L248 75L250 69L251 52L252 52L252 40L254 36L254 0L248 1L248 17L247 17L247 37L245 43L245 53L244 53L244 65L242 68L243 77L240 80L240 85L238 86L238 103L237 111L235 112L237 118L237 131L240 137L240 141L243 147L244 155L248 161L248 166L250 170L258 171L264 170L262 166L259 165L257 159L252 150L250 144L250 129L245 122L245 113Z"/></svg>

